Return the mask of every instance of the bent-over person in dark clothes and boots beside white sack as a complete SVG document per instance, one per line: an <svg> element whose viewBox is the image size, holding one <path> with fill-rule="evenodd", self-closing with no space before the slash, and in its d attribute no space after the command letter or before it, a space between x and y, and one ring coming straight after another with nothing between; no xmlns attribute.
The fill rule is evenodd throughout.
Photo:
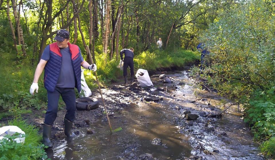
<svg viewBox="0 0 275 160"><path fill-rule="evenodd" d="M123 53L124 59L123 59ZM127 83L127 68L130 67L130 73L131 73L131 83L133 82L133 77L134 77L134 49L123 49L120 51L120 59L123 61L123 76L124 76L124 81L126 84Z"/></svg>

